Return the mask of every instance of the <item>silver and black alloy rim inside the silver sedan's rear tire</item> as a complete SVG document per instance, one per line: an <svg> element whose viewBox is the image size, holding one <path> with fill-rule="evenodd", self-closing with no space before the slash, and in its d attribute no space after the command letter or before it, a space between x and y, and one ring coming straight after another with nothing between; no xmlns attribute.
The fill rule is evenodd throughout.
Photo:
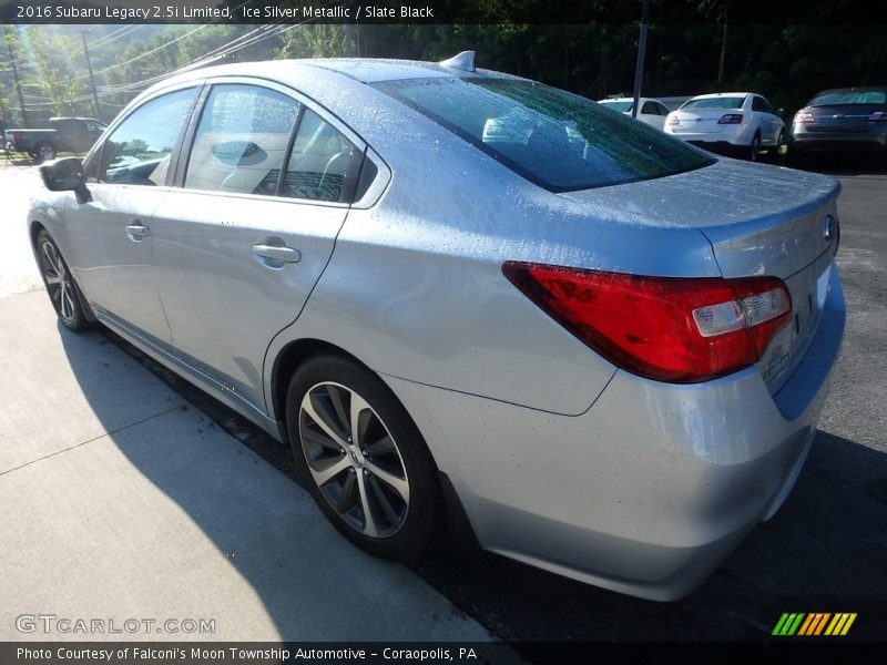
<svg viewBox="0 0 887 665"><path fill-rule="evenodd" d="M312 481L355 531L388 538L409 511L400 450L378 413L350 388L313 386L299 405L298 432Z"/></svg>

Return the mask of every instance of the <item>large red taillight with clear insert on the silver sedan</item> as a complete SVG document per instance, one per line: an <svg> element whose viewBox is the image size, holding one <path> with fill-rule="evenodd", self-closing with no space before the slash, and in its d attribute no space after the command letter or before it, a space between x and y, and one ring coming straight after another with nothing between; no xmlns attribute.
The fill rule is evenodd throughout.
<svg viewBox="0 0 887 665"><path fill-rule="evenodd" d="M502 272L618 367L676 383L754 365L792 313L776 277L642 277L520 262Z"/></svg>

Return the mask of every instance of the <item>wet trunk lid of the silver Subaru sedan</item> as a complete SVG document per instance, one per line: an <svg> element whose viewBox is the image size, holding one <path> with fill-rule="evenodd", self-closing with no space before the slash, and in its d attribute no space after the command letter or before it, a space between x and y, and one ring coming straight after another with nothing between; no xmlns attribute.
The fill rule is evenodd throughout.
<svg viewBox="0 0 887 665"><path fill-rule="evenodd" d="M792 294L792 320L758 362L775 392L818 327L837 249L839 191L830 177L722 160L684 174L565 196L618 206L626 223L699 229L724 277L783 279Z"/></svg>

